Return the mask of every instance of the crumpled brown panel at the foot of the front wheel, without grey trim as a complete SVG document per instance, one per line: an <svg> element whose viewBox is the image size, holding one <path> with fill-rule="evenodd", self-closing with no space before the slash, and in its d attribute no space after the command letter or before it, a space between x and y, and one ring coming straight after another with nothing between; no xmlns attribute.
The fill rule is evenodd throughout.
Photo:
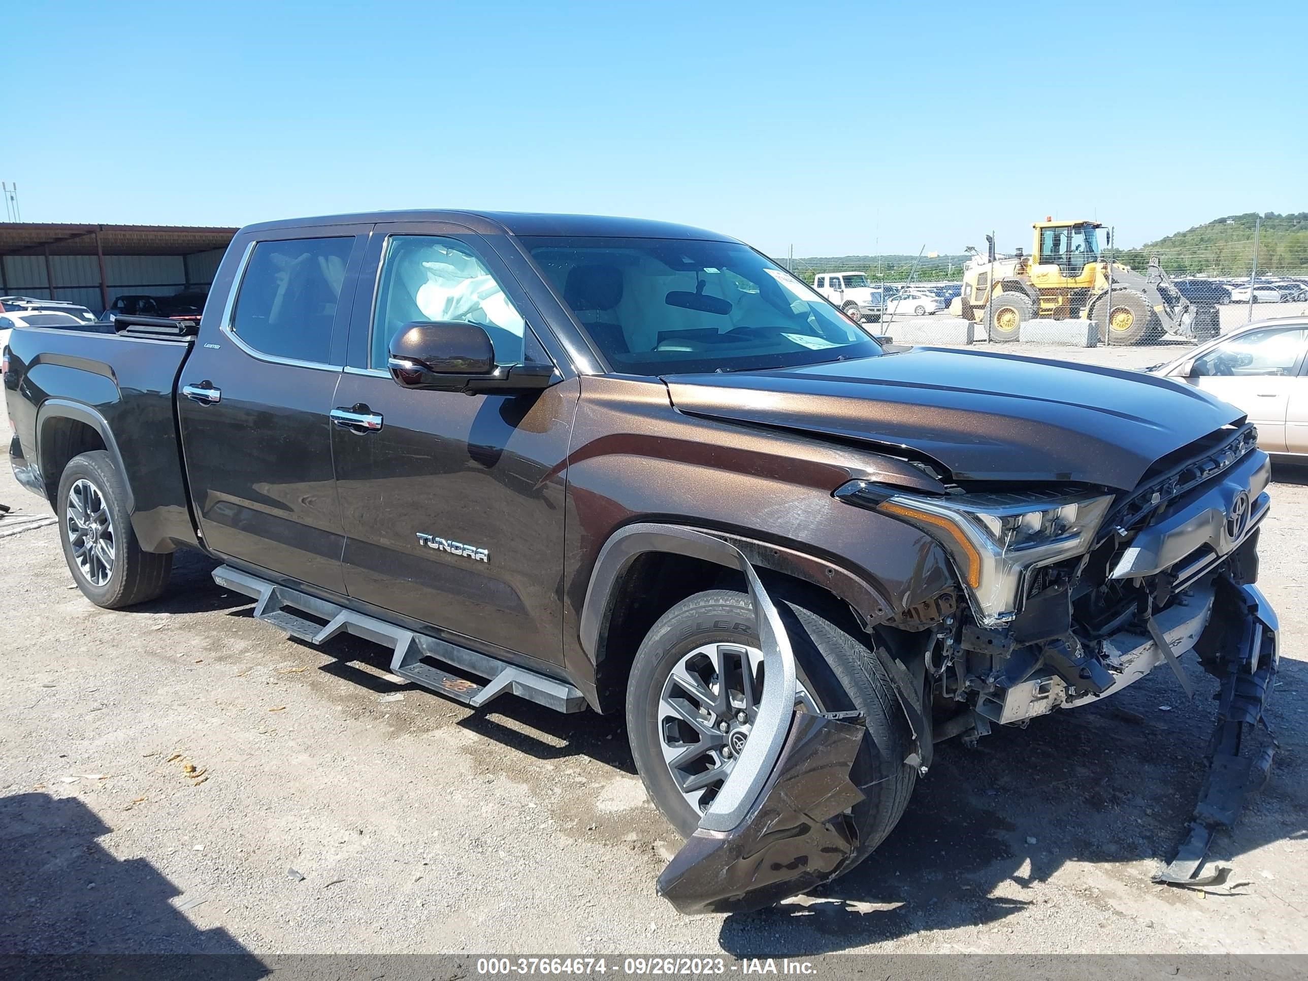
<svg viewBox="0 0 1308 981"><path fill-rule="evenodd" d="M794 712L781 759L744 820L702 825L658 879L681 913L746 913L837 875L858 848L845 814L863 800L850 768L867 729Z"/></svg>

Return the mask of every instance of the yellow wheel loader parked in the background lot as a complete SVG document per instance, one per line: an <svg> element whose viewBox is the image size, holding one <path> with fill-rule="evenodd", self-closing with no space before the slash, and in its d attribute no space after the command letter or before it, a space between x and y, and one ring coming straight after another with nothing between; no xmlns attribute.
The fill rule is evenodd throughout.
<svg viewBox="0 0 1308 981"><path fill-rule="evenodd" d="M1144 273L1109 263L1099 251L1097 221L1053 221L1032 225L1031 254L997 256L994 238L988 256L974 255L963 273L955 313L986 327L993 341L1018 340L1025 320L1087 318L1099 324L1105 344L1138 344L1164 334L1199 340L1215 328L1215 317L1201 318L1172 285L1158 259ZM1213 323L1207 323L1207 320Z"/></svg>

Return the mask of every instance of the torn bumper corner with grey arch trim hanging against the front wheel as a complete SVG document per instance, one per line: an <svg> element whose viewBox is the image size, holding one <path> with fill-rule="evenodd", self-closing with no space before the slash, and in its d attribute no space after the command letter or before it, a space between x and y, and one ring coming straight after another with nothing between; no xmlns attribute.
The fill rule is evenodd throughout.
<svg viewBox="0 0 1308 981"><path fill-rule="evenodd" d="M863 719L797 708L795 658L785 625L743 553L768 679L731 776L658 880L681 913L770 906L835 875L858 848L848 811L863 799L850 768Z"/></svg>

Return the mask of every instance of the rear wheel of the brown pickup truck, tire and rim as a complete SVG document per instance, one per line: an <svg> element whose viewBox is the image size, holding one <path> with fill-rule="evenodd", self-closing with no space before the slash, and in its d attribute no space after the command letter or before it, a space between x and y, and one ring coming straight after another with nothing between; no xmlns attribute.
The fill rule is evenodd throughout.
<svg viewBox="0 0 1308 981"><path fill-rule="evenodd" d="M141 551L126 502L127 487L105 450L64 467L55 498L64 561L82 595L106 610L154 599L173 574L171 553Z"/></svg>

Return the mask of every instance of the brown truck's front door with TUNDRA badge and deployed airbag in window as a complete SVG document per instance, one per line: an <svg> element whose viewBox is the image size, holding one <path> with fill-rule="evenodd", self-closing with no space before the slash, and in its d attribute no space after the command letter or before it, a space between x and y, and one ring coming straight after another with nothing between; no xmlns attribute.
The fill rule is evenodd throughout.
<svg viewBox="0 0 1308 981"><path fill-rule="evenodd" d="M386 361L407 323L477 323L500 364L549 361L530 326L543 323L489 245L455 225L378 225L365 281L373 269L332 429L349 595L490 654L559 662L578 382L530 395L402 388Z"/></svg>

